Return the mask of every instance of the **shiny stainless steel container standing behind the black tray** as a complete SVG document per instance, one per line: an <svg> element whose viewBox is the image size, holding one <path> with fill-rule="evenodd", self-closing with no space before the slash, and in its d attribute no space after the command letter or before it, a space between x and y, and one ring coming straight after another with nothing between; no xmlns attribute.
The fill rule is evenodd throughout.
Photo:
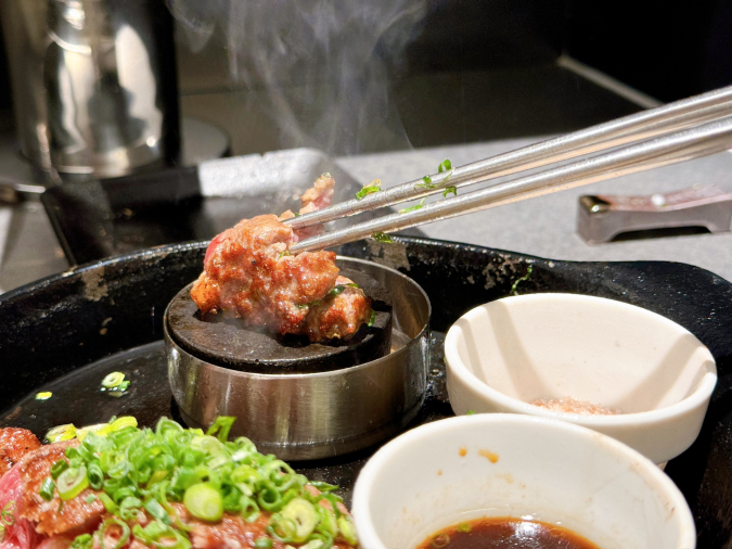
<svg viewBox="0 0 732 549"><path fill-rule="evenodd" d="M2 0L23 153L115 177L178 155L172 20L158 0Z"/></svg>

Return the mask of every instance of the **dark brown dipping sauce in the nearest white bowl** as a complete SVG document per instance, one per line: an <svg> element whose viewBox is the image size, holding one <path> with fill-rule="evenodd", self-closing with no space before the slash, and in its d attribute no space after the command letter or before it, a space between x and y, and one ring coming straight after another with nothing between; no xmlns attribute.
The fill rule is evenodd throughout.
<svg viewBox="0 0 732 549"><path fill-rule="evenodd" d="M418 549L600 549L567 528L508 516L478 519L448 526Z"/></svg>

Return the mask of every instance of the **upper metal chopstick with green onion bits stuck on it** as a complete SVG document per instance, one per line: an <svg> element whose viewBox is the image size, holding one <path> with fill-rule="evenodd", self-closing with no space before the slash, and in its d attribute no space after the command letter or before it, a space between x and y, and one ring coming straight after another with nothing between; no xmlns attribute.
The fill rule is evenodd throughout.
<svg viewBox="0 0 732 549"><path fill-rule="evenodd" d="M332 221L383 206L421 199L455 188L574 158L591 152L627 144L732 114L732 86L657 108L643 111L598 126L535 143L490 158L466 164L448 173L432 176L432 188L416 179L361 200L349 200L284 221L293 229Z"/></svg>

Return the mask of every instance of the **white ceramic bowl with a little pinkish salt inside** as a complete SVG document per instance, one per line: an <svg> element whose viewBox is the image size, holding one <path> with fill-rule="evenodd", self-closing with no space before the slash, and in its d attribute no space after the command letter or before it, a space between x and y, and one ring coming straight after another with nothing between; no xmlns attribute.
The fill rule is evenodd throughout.
<svg viewBox="0 0 732 549"><path fill-rule="evenodd" d="M688 330L588 295L530 294L476 307L450 328L445 359L457 414L562 419L656 463L691 446L717 383L711 354ZM580 416L528 404L567 396L622 413Z"/></svg>

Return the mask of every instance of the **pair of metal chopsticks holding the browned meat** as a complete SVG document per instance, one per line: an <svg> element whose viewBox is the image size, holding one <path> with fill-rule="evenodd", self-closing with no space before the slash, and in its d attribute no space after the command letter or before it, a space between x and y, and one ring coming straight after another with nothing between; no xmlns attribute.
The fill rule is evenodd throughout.
<svg viewBox="0 0 732 549"><path fill-rule="evenodd" d="M449 219L489 207L634 174L732 149L732 86L541 141L454 169L334 204L284 221L293 229L323 224L455 190L560 161L601 153L555 168L305 239L291 252L323 250L376 233ZM608 151L609 152L606 152Z"/></svg>

